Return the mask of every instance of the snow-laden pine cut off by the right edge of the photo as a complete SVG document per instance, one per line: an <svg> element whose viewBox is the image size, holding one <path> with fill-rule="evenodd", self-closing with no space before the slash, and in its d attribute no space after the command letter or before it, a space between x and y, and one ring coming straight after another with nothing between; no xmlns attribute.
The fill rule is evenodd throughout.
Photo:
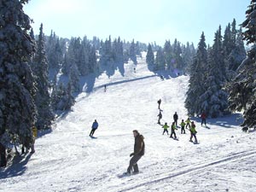
<svg viewBox="0 0 256 192"><path fill-rule="evenodd" d="M227 85L230 109L243 111L242 126L256 127L256 0L252 0L246 11L246 20L241 24L245 28L243 40L253 44L247 51L247 58L237 69L238 75Z"/></svg>

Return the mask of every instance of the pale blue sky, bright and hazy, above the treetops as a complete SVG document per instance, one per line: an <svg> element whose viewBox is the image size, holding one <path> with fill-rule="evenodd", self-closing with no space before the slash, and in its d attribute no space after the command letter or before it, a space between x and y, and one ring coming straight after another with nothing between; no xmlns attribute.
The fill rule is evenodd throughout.
<svg viewBox="0 0 256 192"><path fill-rule="evenodd" d="M207 44L214 32L236 19L245 20L250 0L31 0L25 13L38 34L41 23L44 33L53 30L59 37L93 36L163 45L166 39L177 38L185 44L198 44L204 31Z"/></svg>

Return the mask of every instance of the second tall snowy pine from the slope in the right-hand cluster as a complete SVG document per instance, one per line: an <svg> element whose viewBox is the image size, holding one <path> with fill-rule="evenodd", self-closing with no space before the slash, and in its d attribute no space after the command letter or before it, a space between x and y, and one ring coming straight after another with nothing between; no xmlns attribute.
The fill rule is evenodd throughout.
<svg viewBox="0 0 256 192"><path fill-rule="evenodd" d="M222 90L226 82L225 69L221 27L219 26L212 49L208 53L207 79L204 84L207 90L200 97L201 109L212 118L229 113L228 94Z"/></svg>

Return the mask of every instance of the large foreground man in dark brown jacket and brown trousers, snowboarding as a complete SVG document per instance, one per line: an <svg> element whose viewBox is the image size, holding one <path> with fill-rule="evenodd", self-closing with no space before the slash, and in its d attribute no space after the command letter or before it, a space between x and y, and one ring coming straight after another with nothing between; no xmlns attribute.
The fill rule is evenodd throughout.
<svg viewBox="0 0 256 192"><path fill-rule="evenodd" d="M130 157L132 156L132 158L125 174L131 174L131 168L133 168L134 174L139 172L137 161L140 160L145 153L145 143L143 135L140 135L137 130L134 130L133 136L135 137L134 152L130 154Z"/></svg>

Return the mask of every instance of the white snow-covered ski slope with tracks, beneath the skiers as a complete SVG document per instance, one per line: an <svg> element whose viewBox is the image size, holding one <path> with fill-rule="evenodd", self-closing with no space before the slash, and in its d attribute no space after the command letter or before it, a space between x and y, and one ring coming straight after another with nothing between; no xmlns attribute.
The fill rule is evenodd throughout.
<svg viewBox="0 0 256 192"><path fill-rule="evenodd" d="M57 120L49 134L38 137L36 153L0 171L0 191L256 191L256 133L243 133L237 115L209 119L208 128L194 119L199 144L189 143L189 131L178 141L162 135L157 125L157 100L162 99L162 123L172 123L184 108L188 76L160 80L148 71L145 55L137 64L96 79L94 91L78 96L73 111ZM107 92L102 85L108 84ZM94 119L95 139L89 137ZM145 137L141 173L126 171L133 151L132 130Z"/></svg>

